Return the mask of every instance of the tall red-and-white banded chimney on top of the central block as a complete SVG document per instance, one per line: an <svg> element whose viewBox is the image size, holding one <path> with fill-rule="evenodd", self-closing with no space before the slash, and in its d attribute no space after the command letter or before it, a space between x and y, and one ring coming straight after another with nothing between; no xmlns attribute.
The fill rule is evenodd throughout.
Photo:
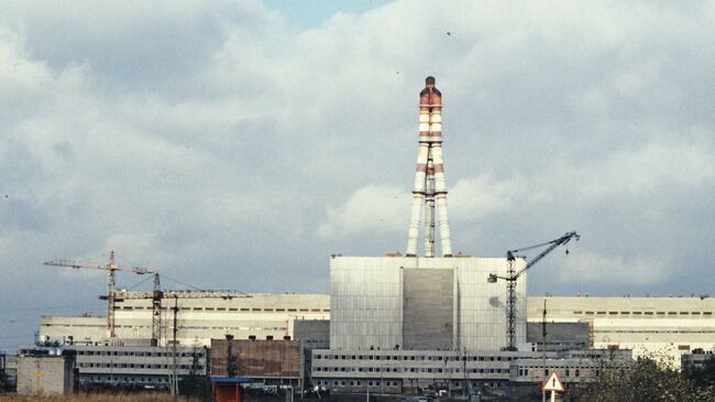
<svg viewBox="0 0 715 402"><path fill-rule="evenodd" d="M442 93L435 86L435 77L427 77L425 84L426 88L419 94L419 146L407 257L417 257L422 206L425 211L425 257L435 257L436 226L439 229L442 257L452 257L444 162L442 160Z"/></svg>

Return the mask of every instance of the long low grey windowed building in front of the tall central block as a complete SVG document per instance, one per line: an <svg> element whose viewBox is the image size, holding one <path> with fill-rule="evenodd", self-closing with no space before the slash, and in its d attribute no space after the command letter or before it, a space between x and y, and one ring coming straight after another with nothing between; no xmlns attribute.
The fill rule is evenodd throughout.
<svg viewBox="0 0 715 402"><path fill-rule="evenodd" d="M334 392L410 393L417 388L449 390L506 388L539 383L552 370L564 382L580 382L603 368L628 369L630 350L481 351L314 350L312 379ZM546 373L546 374L544 374Z"/></svg>

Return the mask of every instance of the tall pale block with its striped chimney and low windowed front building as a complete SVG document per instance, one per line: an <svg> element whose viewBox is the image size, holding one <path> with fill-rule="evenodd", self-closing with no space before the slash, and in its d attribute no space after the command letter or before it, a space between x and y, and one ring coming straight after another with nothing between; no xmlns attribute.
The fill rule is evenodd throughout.
<svg viewBox="0 0 715 402"><path fill-rule="evenodd" d="M502 351L526 345L526 274L515 280L526 261L452 254L441 110L441 93L428 77L419 96L405 256L330 260L330 348L312 351L318 387L381 393L501 388L509 381L512 360L540 356ZM497 278L509 279L509 292L494 284Z"/></svg>

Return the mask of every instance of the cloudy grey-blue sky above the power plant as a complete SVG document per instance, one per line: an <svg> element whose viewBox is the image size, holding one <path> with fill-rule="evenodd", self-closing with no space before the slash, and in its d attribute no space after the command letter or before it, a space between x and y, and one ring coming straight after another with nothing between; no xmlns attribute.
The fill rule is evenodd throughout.
<svg viewBox="0 0 715 402"><path fill-rule="evenodd" d="M712 2L3 1L0 350L103 314L53 259L328 293L404 252L428 75L455 252L576 230L529 294L715 293L713 61Z"/></svg>

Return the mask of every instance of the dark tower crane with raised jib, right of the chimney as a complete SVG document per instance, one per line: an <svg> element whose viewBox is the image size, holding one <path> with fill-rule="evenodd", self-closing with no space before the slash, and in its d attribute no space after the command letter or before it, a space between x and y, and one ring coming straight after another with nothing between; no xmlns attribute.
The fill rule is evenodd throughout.
<svg viewBox="0 0 715 402"><path fill-rule="evenodd" d="M534 267L537 262L541 261L541 259L544 258L548 253L553 251L553 249L556 249L559 246L568 243L573 238L575 238L576 241L579 241L579 239L581 239L581 236L579 236L579 233L576 233L575 231L569 231L558 239L553 239L535 246L522 247L520 249L508 250L506 252L506 261L508 263L506 276L499 276L497 274L491 273L490 276L487 278L487 282L490 283L495 283L498 279L506 281L506 307L507 307L506 335L508 340L507 350L516 350L516 339L515 339L516 338L516 328L515 328L516 327L516 281L529 268ZM515 253L519 251L537 249L540 247L547 247L547 248L543 251L541 251L537 257L535 257L531 261L529 261L518 272L515 271L514 261L516 261L517 259L517 257L515 257ZM566 253L569 253L568 250Z"/></svg>

